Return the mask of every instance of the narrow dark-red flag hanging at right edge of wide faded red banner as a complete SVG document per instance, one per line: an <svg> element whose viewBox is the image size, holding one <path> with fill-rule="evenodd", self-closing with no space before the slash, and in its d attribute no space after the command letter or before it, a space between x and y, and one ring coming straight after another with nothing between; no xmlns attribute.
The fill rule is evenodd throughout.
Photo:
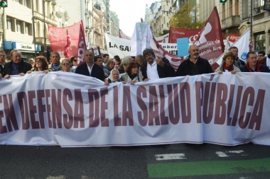
<svg viewBox="0 0 270 179"><path fill-rule="evenodd" d="M85 62L85 50L87 50L85 43L85 32L80 25L79 42L77 44L77 64L80 65Z"/></svg>

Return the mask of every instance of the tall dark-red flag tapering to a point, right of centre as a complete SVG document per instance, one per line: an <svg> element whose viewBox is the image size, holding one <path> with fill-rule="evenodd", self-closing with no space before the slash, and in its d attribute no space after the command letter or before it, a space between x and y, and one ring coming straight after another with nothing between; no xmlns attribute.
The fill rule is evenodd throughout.
<svg viewBox="0 0 270 179"><path fill-rule="evenodd" d="M218 16L216 6L194 44L199 47L200 57L207 59L210 64L215 62L215 59L224 52L220 17Z"/></svg>

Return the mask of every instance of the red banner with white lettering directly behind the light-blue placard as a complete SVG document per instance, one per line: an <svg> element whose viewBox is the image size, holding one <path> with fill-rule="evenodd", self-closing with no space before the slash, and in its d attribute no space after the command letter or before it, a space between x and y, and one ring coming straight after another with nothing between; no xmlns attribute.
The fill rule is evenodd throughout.
<svg viewBox="0 0 270 179"><path fill-rule="evenodd" d="M176 39L188 37L190 43L195 42L202 29L173 28L170 27L169 43L176 43Z"/></svg>

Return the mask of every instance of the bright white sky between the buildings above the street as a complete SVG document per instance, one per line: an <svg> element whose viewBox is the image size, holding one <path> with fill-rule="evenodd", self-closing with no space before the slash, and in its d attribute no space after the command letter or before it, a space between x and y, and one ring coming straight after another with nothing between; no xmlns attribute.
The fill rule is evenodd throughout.
<svg viewBox="0 0 270 179"><path fill-rule="evenodd" d="M144 19L146 4L149 8L153 2L155 0L111 0L109 10L117 13L120 29L131 37L135 23Z"/></svg>

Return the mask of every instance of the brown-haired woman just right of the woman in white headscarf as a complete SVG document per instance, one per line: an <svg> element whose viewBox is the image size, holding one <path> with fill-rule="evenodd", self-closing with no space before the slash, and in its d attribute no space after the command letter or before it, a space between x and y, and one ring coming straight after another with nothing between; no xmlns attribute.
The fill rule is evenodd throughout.
<svg viewBox="0 0 270 179"><path fill-rule="evenodd" d="M121 79L132 85L143 81L144 76L139 73L139 64L137 62L130 62L126 67L126 73L121 74Z"/></svg>

